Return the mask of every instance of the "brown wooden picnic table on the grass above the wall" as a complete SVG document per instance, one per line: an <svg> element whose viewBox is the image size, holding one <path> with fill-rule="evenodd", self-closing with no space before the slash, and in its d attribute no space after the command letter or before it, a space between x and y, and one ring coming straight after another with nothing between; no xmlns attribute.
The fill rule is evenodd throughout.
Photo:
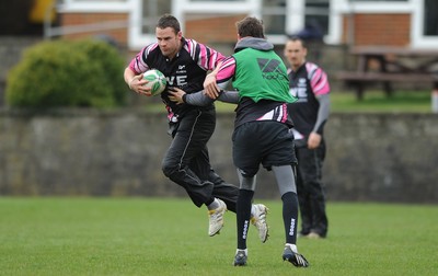
<svg viewBox="0 0 438 276"><path fill-rule="evenodd" d="M350 50L357 57L355 71L342 71L337 79L356 91L358 100L365 88L382 83L387 95L393 92L393 82L433 83L438 88L438 48L418 49L390 46L360 46ZM370 64L374 62L371 70Z"/></svg>

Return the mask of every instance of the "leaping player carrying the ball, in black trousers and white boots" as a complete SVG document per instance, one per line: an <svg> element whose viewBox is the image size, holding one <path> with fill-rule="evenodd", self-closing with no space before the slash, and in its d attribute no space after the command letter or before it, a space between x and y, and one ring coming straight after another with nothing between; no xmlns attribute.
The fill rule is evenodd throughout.
<svg viewBox="0 0 438 276"><path fill-rule="evenodd" d="M166 77L170 87L188 94L199 91L207 72L224 58L217 50L183 37L180 22L170 14L159 19L155 36L157 42L142 48L124 72L125 82L138 94L151 95L150 89L143 87L147 81L142 80L142 73L152 68ZM185 188L197 207L207 206L208 234L212 237L223 227L226 210L235 212L239 194L239 188L226 183L210 165L207 142L216 127L215 105L177 105L169 100L168 91L161 93L161 99L173 138L162 160L162 171ZM262 242L268 237L266 212L265 205L252 205L252 223L257 228Z"/></svg>

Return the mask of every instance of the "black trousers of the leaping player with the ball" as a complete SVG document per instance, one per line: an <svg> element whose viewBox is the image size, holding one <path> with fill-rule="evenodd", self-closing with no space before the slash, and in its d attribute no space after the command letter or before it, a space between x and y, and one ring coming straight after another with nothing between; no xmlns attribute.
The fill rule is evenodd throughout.
<svg viewBox="0 0 438 276"><path fill-rule="evenodd" d="M193 110L175 127L162 161L164 175L184 187L196 206L218 197L235 211L239 188L211 169L208 156L207 142L216 127L215 110Z"/></svg>

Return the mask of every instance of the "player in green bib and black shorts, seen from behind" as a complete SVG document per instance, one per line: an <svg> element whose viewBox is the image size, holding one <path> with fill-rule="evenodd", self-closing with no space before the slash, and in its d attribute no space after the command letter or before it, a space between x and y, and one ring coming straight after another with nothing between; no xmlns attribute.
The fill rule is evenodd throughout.
<svg viewBox="0 0 438 276"><path fill-rule="evenodd" d="M238 103L232 135L233 162L240 180L238 246L233 264L246 265L251 203L262 164L274 172L281 195L286 240L283 260L307 267L309 263L298 253L296 244L299 207L292 165L297 160L293 136L289 131L292 122L287 110L287 103L296 99L289 93L285 64L274 51L274 45L265 39L262 21L245 18L237 23L237 28L234 54L208 74L205 91L185 94L175 89L171 100L194 105L215 100ZM223 91L230 81L235 91Z"/></svg>

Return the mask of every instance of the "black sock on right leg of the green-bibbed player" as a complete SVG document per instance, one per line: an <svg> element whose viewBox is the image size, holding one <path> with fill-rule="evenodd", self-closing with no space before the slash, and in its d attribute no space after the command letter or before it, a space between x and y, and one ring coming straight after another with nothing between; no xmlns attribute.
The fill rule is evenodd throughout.
<svg viewBox="0 0 438 276"><path fill-rule="evenodd" d="M281 196L283 221L285 223L286 243L297 244L298 197L289 192Z"/></svg>

